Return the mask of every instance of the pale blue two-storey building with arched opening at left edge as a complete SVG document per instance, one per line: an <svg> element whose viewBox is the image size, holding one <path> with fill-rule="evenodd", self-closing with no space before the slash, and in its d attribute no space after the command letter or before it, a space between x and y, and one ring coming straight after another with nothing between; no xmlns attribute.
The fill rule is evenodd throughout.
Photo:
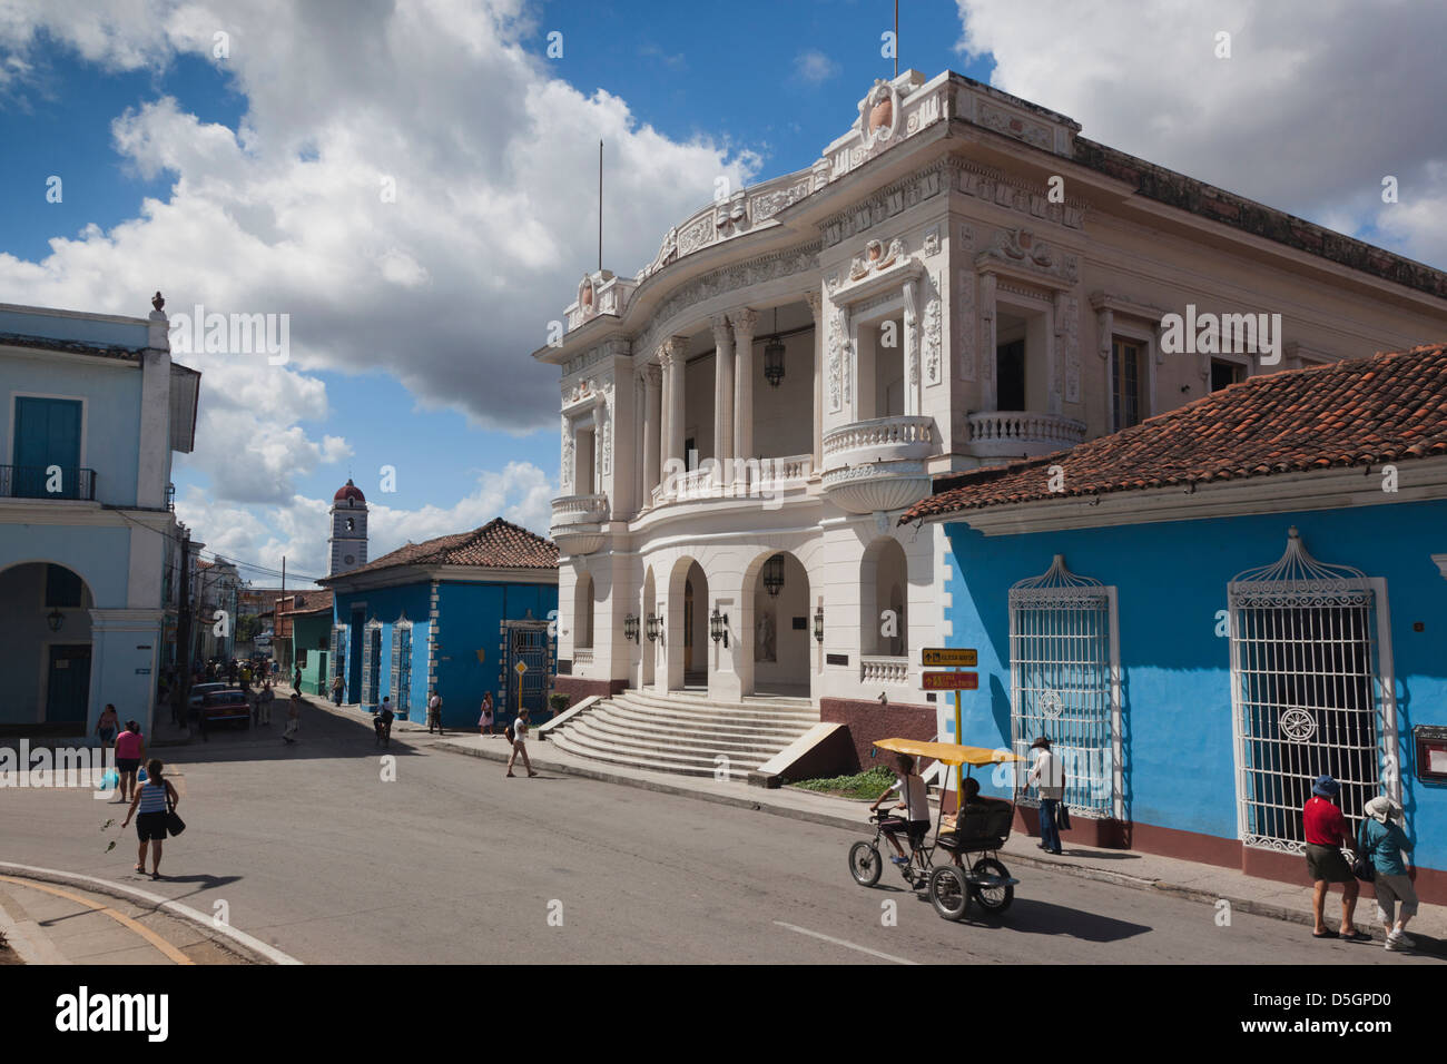
<svg viewBox="0 0 1447 1064"><path fill-rule="evenodd" d="M149 732L179 598L171 460L201 375L149 318L0 305L0 724Z"/></svg>

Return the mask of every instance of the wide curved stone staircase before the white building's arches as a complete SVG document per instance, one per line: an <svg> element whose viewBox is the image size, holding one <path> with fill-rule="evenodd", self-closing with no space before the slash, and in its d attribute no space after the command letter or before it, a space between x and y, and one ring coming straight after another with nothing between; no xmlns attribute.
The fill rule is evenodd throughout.
<svg viewBox="0 0 1447 1064"><path fill-rule="evenodd" d="M579 757L683 776L748 773L819 722L807 698L710 702L703 692L624 691L595 702L548 734ZM718 759L726 757L726 763Z"/></svg>

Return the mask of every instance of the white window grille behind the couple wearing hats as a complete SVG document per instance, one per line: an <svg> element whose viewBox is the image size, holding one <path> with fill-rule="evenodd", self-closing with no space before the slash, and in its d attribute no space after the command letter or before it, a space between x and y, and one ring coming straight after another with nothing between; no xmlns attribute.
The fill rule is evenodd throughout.
<svg viewBox="0 0 1447 1064"><path fill-rule="evenodd" d="M1360 819L1396 744L1391 651L1378 627L1386 586L1318 562L1291 528L1276 563L1227 591L1237 828L1246 845L1301 853L1317 776L1341 783L1341 812ZM1399 798L1392 774L1388 790Z"/></svg>

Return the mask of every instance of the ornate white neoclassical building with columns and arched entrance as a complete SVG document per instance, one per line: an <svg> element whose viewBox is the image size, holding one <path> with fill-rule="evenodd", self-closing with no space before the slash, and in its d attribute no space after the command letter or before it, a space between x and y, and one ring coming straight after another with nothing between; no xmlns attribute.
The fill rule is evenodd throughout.
<svg viewBox="0 0 1447 1064"><path fill-rule="evenodd" d="M557 686L928 738L948 543L897 520L939 478L1437 339L1444 295L962 75L877 81L809 169L583 276L534 353L561 373Z"/></svg>

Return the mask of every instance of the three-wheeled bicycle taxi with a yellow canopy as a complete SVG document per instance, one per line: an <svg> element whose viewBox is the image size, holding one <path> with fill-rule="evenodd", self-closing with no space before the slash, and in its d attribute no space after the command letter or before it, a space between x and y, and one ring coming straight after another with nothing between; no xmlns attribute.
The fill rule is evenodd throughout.
<svg viewBox="0 0 1447 1064"><path fill-rule="evenodd" d="M964 767L964 773L956 774L956 793L965 793L964 780L969 777L972 769L1024 760L1003 750L955 743L922 743L912 738L884 738L874 746L878 750L939 761L952 769ZM855 883L868 887L880 882L880 873L884 870L880 840L888 814L878 812L870 819L875 824L874 838L861 840L849 847L849 874ZM910 860L900 867L900 871L913 890L929 892L930 905L943 919L964 919L971 900L978 902L987 912L1004 912L1014 900L1014 887L1020 882L1010 877L997 856L1000 847L1010 838L1013 821L1014 802L988 799L981 802L980 808L961 811L955 816L954 829L945 831L945 808L941 802L935 814L933 840L917 844L910 841ZM949 861L935 866L935 850L943 850Z"/></svg>

